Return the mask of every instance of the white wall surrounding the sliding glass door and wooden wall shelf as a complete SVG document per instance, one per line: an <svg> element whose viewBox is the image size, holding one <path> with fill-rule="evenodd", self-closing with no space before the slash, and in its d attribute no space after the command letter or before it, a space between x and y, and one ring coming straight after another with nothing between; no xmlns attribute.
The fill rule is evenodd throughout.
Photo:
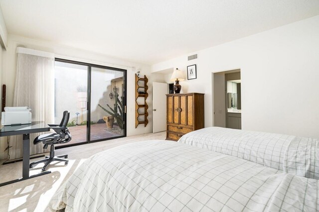
<svg viewBox="0 0 319 212"><path fill-rule="evenodd" d="M115 68L127 69L127 135L136 135L149 133L153 131L153 121L152 121L152 82L153 80L157 82L163 82L163 76L161 74L153 74L151 76L150 66L145 64L137 64L129 61L120 60L117 58L108 57L102 54L96 54L89 51L84 51L80 49L70 48L66 46L61 46L58 44L28 39L20 36L9 35L8 36L8 46L7 51L3 52L2 57L2 84L6 84L6 106L12 106L13 103L13 90L15 83L15 72L16 72L16 47L24 46L26 48L37 49L41 51L48 51L56 54L56 57L76 60L81 62L93 63L104 66L111 66ZM136 69L141 69L142 75L147 75L149 78L149 98L147 103L149 105L149 124L144 127L144 125L139 125L135 128L135 72ZM1 144L4 142L1 142ZM3 152L3 148L0 148L0 154ZM3 157L0 157L0 159Z"/></svg>

